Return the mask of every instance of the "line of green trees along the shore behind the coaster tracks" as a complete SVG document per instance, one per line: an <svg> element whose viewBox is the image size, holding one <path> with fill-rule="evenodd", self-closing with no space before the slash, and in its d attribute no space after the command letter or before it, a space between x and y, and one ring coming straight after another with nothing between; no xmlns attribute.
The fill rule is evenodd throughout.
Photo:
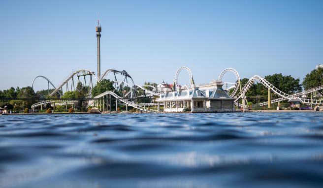
<svg viewBox="0 0 323 188"><path fill-rule="evenodd" d="M317 69L312 70L310 73L306 74L303 82L300 84L299 78L293 78L291 75L282 75L281 73L276 73L273 75L267 75L264 77L268 82L270 82L274 87L279 89L280 91L286 93L286 94L294 94L301 92L302 89L308 90L311 88L315 88L318 86L323 85L323 68L319 67ZM247 84L248 78L243 78L240 80L242 88ZM103 79L95 87L90 90L89 86L83 86L81 82L79 82L76 86L75 91L67 91L64 94L62 94L61 98L75 98L80 99L77 102L77 105L75 105L75 108L77 108L80 111L86 110L86 104L87 101L85 98L88 98L91 94L92 97L101 94L105 91L112 91L119 96L124 96L127 92L129 92L130 88L128 86L120 86L119 90L117 90L114 87L114 82L111 80ZM144 85L152 85L154 87L157 87L156 83L149 83L145 82ZM150 89L146 87L146 89ZM11 87L8 90L0 90L0 107L7 106L8 109L12 110L18 110L18 109L24 109L31 108L32 104L38 101L41 98L57 98L60 96L48 96L49 93L51 93L54 89L51 89L49 92L48 90L41 90L34 92L32 87L23 87L16 89ZM240 89L239 89L240 90ZM238 90L238 93L240 92ZM229 91L232 92L233 90ZM138 91L139 95L143 94L143 91ZM323 91L318 91L319 96L323 96ZM249 91L246 93L246 96L257 96L267 95L267 88L264 87L260 83L254 83ZM272 97L279 97L276 94L272 94ZM31 100L4 100L5 98L30 98ZM113 97L112 97L113 98ZM256 99L252 99L252 102L256 103Z"/></svg>

